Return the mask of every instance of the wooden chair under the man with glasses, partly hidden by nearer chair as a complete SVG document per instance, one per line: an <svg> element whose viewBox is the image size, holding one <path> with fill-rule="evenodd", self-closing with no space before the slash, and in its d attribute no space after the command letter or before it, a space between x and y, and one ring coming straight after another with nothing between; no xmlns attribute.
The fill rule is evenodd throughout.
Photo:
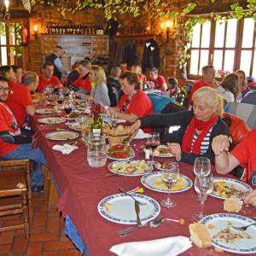
<svg viewBox="0 0 256 256"><path fill-rule="evenodd" d="M28 200L31 202L32 189L31 189L31 172L32 163L30 160L3 160L0 159L0 172L9 170L24 170L26 172L26 183L28 188Z"/></svg>

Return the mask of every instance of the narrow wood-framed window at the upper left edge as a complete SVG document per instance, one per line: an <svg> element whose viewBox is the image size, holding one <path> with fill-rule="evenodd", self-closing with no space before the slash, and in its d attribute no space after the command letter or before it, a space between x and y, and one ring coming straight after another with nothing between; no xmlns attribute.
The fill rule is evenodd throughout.
<svg viewBox="0 0 256 256"><path fill-rule="evenodd" d="M21 25L19 22L0 22L0 65L22 67Z"/></svg>

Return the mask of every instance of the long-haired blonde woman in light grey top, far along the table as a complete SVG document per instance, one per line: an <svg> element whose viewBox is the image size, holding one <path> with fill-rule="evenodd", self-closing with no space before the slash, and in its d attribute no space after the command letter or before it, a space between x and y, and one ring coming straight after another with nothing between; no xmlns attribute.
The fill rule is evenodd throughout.
<svg viewBox="0 0 256 256"><path fill-rule="evenodd" d="M104 106L110 106L104 69L97 65L91 65L89 79L91 82L90 97L93 98L93 101L96 104L102 103Z"/></svg>

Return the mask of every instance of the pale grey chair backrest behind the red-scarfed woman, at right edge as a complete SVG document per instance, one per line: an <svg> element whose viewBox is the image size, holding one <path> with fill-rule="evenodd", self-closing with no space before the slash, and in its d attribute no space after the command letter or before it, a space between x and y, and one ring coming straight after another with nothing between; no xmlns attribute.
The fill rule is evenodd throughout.
<svg viewBox="0 0 256 256"><path fill-rule="evenodd" d="M256 105L242 102L229 102L225 107L225 112L233 113L243 119L250 129L256 127Z"/></svg>

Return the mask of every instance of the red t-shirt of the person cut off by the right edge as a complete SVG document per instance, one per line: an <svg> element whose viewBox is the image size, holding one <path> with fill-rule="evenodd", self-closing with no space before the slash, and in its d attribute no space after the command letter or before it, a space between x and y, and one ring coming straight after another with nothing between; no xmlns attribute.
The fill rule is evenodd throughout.
<svg viewBox="0 0 256 256"><path fill-rule="evenodd" d="M253 172L256 172L256 129L249 131L247 136L243 137L241 143L231 151L242 167L247 167L246 175L243 175L242 180L248 182L252 177Z"/></svg>

